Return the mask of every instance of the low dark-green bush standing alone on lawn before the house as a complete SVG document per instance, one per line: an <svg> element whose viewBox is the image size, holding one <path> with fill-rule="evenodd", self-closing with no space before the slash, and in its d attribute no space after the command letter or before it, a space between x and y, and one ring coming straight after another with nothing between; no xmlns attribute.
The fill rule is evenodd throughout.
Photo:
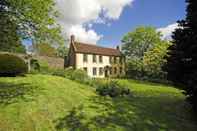
<svg viewBox="0 0 197 131"><path fill-rule="evenodd" d="M97 83L97 89L99 95L101 96L110 96L118 97L124 95L130 95L130 89L123 87L117 81L109 81L105 83Z"/></svg>

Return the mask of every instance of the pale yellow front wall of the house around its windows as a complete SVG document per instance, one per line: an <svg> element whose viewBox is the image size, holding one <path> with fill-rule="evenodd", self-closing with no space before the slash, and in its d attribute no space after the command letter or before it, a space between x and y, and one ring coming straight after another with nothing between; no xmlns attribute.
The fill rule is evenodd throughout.
<svg viewBox="0 0 197 131"><path fill-rule="evenodd" d="M97 78L103 78L105 77L105 71L103 70L103 75L99 75L99 68L102 67L104 69L104 67L106 66L110 66L112 67L112 72L114 73L114 67L117 67L117 74L114 75L112 74L112 77L117 77L119 76L119 68L120 66L122 67L122 70L123 70L123 74L124 75L124 70L125 70L125 64L120 64L119 63L119 59L117 59L117 64L110 64L110 61L109 61L110 57L109 56L103 56L103 62L100 63L99 62L99 55L96 55L96 60L97 62L96 63L93 63L93 55L92 54L88 54L88 62L83 62L83 54L81 53L77 53L76 54L76 68L77 69L83 69L84 67L87 67L88 71L88 75L90 77L97 77ZM93 67L96 67L97 68L97 75L96 76L93 76Z"/></svg>

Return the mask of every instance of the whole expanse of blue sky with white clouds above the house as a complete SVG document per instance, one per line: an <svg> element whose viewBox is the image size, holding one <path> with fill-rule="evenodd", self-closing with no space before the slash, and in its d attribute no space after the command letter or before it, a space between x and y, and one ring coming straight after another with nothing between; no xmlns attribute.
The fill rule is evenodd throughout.
<svg viewBox="0 0 197 131"><path fill-rule="evenodd" d="M185 0L55 0L65 39L115 47L138 26L153 26L166 38L185 17ZM88 26L89 25L89 26ZM31 41L24 41L31 44Z"/></svg>

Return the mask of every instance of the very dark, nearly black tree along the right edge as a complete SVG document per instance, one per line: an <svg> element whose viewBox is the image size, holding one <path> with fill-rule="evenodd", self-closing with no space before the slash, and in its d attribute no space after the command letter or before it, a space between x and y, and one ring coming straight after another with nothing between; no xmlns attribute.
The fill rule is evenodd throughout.
<svg viewBox="0 0 197 131"><path fill-rule="evenodd" d="M186 19L178 22L164 70L169 80L186 91L197 111L197 1L187 0L187 4Z"/></svg>

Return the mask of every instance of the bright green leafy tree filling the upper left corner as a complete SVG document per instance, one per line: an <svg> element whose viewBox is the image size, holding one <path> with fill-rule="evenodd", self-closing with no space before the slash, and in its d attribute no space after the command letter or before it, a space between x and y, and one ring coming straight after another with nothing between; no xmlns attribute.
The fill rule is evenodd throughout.
<svg viewBox="0 0 197 131"><path fill-rule="evenodd" d="M4 19L10 21L13 28L9 32L17 33L20 39L31 38L34 43L63 43L60 26L56 24L57 11L54 0L1 0L0 25L6 26ZM0 30L3 39L7 37ZM9 35L14 41L16 37ZM18 38L17 38L18 39ZM9 41L8 41L9 42Z"/></svg>

